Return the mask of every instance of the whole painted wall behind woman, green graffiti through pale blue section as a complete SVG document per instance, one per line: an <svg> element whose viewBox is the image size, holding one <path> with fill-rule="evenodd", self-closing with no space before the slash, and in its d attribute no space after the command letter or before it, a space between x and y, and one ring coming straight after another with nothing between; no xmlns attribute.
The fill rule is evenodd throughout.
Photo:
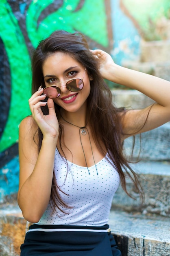
<svg viewBox="0 0 170 256"><path fill-rule="evenodd" d="M169 8L168 2L0 0L1 202L18 189L18 127L30 114L32 49L56 29L78 30L85 34L92 49L111 53L116 63L135 60L140 54L141 29L147 23L143 16L158 16L157 10Z"/></svg>

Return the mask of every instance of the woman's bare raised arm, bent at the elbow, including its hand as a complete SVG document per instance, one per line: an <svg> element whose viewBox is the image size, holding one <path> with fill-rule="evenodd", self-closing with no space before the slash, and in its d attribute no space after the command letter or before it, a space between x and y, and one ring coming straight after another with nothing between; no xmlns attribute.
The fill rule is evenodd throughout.
<svg viewBox="0 0 170 256"><path fill-rule="evenodd" d="M92 53L99 63L103 78L138 90L156 102L152 107L126 112L122 119L123 132L127 135L125 137L128 134L146 132L170 121L169 81L116 65L111 56L101 50L94 50ZM143 126L145 120L146 124Z"/></svg>

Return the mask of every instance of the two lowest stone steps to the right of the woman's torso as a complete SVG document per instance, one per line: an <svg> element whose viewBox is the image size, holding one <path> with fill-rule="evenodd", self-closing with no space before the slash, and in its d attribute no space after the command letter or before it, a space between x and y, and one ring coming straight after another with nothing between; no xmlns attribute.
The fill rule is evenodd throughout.
<svg viewBox="0 0 170 256"><path fill-rule="evenodd" d="M141 162L133 169L139 173L145 202L130 181L129 198L119 187L113 199L110 226L122 256L170 256L170 164Z"/></svg>

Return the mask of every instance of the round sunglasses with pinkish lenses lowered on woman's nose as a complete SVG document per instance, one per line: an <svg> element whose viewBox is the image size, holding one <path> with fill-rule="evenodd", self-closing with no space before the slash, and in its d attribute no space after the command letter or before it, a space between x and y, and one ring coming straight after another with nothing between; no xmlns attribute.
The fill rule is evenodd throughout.
<svg viewBox="0 0 170 256"><path fill-rule="evenodd" d="M86 70L86 68L85 68L85 70ZM82 79L74 78L74 79L69 79L69 80L64 81L64 82L67 82L65 84L65 87L70 92L79 92L79 91L81 91L83 89L83 86L84 86L84 83L83 83L84 75L85 75L85 71L84 71ZM59 82L59 83L61 83L61 82ZM56 83L56 85L59 84L59 83ZM44 88L44 94L46 94L47 98L55 99L55 98L58 98L60 96L61 90L56 85L51 85L51 86L48 86L48 87Z"/></svg>

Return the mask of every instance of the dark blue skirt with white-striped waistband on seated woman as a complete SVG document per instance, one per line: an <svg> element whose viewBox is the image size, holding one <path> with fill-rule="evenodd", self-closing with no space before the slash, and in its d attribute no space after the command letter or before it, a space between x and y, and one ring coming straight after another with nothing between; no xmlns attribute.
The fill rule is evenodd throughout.
<svg viewBox="0 0 170 256"><path fill-rule="evenodd" d="M67 231L36 231L37 228ZM96 229L94 231L69 231L69 229ZM121 256L111 232L99 232L102 227L45 226L34 224L21 245L21 256Z"/></svg>

